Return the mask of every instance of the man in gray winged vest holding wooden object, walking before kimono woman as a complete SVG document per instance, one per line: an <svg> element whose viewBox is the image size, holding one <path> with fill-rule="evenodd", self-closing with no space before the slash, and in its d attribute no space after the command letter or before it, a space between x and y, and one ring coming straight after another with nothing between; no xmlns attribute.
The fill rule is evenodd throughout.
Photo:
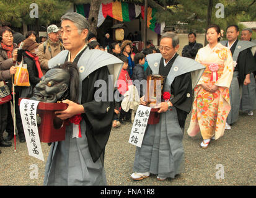
<svg viewBox="0 0 256 198"><path fill-rule="evenodd" d="M159 49L161 54L147 56L149 67L146 72L167 75L163 91L171 97L160 103L159 123L148 125L141 147L136 148L134 173L131 174L135 180L147 178L152 173L162 181L181 173L185 119L193 103L193 87L205 69L193 59L177 54L179 38L175 33L162 35ZM146 105L144 97L141 104Z"/></svg>

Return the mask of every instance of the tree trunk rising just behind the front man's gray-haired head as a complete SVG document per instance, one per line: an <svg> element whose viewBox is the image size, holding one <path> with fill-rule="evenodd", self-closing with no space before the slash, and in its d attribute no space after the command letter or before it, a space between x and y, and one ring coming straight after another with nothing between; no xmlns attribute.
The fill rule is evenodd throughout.
<svg viewBox="0 0 256 198"><path fill-rule="evenodd" d="M100 10L100 0L94 0L90 3L90 12L88 17L89 22L89 31L94 33L97 36L97 24L98 24L98 15Z"/></svg>

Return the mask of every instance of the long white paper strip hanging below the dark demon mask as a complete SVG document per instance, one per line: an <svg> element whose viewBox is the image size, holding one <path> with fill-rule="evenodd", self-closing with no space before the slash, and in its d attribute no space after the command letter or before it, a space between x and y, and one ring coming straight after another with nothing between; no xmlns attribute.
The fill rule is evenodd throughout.
<svg viewBox="0 0 256 198"><path fill-rule="evenodd" d="M39 101L22 99L20 101L20 116L27 142L29 155L39 160L43 158L42 147L37 127L37 105Z"/></svg>

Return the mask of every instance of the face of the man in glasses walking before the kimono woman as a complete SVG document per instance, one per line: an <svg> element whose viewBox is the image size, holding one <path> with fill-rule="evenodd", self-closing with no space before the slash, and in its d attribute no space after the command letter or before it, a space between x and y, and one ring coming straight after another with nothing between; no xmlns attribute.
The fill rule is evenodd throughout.
<svg viewBox="0 0 256 198"><path fill-rule="evenodd" d="M170 61L170 59L174 56L174 54L178 51L180 45L172 46L172 38L162 38L160 41L160 52L162 54L162 58L166 61Z"/></svg>

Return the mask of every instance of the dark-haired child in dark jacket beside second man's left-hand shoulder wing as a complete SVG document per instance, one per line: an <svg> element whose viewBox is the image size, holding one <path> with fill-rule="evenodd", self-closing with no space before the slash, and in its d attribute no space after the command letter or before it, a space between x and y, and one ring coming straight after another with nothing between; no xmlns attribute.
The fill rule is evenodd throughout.
<svg viewBox="0 0 256 198"><path fill-rule="evenodd" d="M135 54L135 67L133 68L133 80L134 85L138 89L139 97L143 97L146 87L143 87L143 82L141 80L146 80L146 75L144 74L143 64L145 63L145 55L143 53ZM145 81L146 82L146 81Z"/></svg>

